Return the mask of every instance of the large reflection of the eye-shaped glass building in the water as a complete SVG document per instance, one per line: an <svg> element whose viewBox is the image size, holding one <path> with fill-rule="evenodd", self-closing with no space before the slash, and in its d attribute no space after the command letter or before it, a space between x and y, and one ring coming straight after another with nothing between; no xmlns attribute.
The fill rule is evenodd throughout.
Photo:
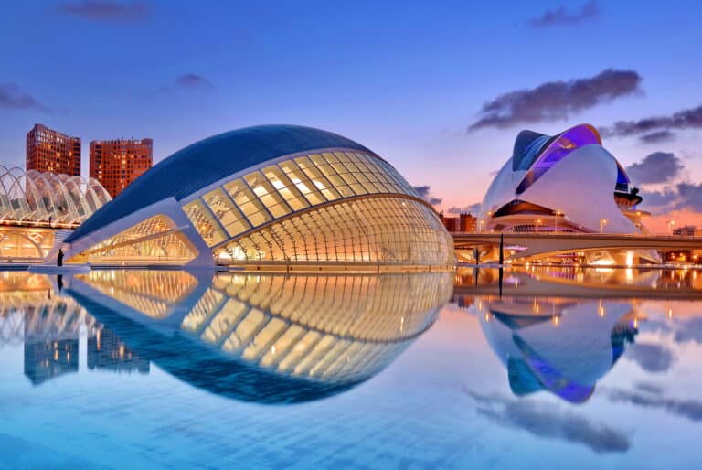
<svg viewBox="0 0 702 470"><path fill-rule="evenodd" d="M450 299L452 272L93 271L67 284L132 357L271 403L335 394L384 369Z"/></svg>

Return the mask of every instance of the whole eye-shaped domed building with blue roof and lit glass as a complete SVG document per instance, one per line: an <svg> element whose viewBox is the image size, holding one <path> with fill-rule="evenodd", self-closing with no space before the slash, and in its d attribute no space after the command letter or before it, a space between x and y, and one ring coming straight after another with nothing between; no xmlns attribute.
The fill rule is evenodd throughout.
<svg viewBox="0 0 702 470"><path fill-rule="evenodd" d="M345 137L264 125L192 144L140 176L63 245L94 265L447 266L437 214Z"/></svg>

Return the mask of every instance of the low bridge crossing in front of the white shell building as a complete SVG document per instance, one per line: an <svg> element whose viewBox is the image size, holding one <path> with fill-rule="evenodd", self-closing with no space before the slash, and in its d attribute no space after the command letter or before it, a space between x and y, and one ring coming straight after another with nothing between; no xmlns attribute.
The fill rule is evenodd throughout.
<svg viewBox="0 0 702 470"><path fill-rule="evenodd" d="M456 250L495 249L499 233L453 233ZM552 256L574 251L702 250L702 237L622 233L505 233L505 260ZM512 254L510 254L512 253ZM485 260L487 261L487 260Z"/></svg>

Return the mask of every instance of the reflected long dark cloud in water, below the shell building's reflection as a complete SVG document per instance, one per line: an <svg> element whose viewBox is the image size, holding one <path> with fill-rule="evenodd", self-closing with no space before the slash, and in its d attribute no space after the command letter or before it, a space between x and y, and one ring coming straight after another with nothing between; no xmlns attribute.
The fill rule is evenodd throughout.
<svg viewBox="0 0 702 470"><path fill-rule="evenodd" d="M476 403L476 411L501 426L520 429L539 438L580 443L598 454L626 452L631 447L622 431L591 422L554 405L531 400L511 400L463 389Z"/></svg>

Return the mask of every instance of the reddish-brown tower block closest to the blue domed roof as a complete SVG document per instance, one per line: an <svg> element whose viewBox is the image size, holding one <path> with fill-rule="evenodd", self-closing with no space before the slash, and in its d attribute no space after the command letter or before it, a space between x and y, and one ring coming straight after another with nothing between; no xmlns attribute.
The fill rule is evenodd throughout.
<svg viewBox="0 0 702 470"><path fill-rule="evenodd" d="M116 198L151 168L153 151L151 139L94 140L90 142L90 176Z"/></svg>

